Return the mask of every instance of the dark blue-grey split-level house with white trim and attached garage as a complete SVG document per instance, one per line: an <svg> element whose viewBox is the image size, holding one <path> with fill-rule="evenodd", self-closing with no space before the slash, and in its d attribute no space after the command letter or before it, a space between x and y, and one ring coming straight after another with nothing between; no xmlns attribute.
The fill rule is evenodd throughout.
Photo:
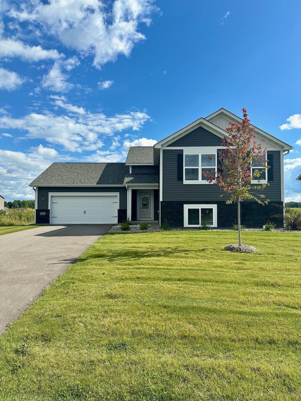
<svg viewBox="0 0 301 401"><path fill-rule="evenodd" d="M218 169L222 138L231 121L242 119L220 109L155 146L131 147L125 163L51 164L30 184L36 223L115 224L129 217L160 225L167 221L170 227L230 227L237 206L227 205L220 187L209 184L201 172ZM259 128L254 133L267 148L270 168L261 178L269 184L263 193L270 203L242 202L241 219L247 227L262 227L283 210L283 156L293 147Z"/></svg>

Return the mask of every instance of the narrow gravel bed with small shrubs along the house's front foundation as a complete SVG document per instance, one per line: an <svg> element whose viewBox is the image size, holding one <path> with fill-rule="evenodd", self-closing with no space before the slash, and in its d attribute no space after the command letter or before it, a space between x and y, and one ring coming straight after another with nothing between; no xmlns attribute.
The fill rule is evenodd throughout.
<svg viewBox="0 0 301 401"><path fill-rule="evenodd" d="M158 224L150 224L148 226L147 230L140 230L139 225L130 225L130 229L128 231L122 231L120 229L120 224L117 224L115 226L113 226L110 231L108 231L109 233L115 233L115 234L137 234L137 233L155 233L155 232L162 232L162 231L166 231L163 230L162 228L159 227ZM169 231L206 231L206 230L202 230L201 228L188 228L188 227L180 227L180 228L171 228ZM208 231L235 231L236 233L238 232L237 230L234 230L232 228L228 228L228 229L218 229L218 228L212 228L209 229ZM262 228L249 228L249 229L244 229L242 230L242 232L244 231L264 231L266 233L269 232L274 232L274 233L298 233L299 231L296 230L285 230L285 229L274 229L273 231L265 231Z"/></svg>

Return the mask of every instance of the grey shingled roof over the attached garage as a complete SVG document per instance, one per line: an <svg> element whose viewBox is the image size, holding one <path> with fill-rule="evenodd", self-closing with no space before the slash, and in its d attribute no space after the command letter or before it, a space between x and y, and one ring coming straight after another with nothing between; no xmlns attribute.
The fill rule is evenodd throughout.
<svg viewBox="0 0 301 401"><path fill-rule="evenodd" d="M123 185L125 163L53 163L30 186Z"/></svg>

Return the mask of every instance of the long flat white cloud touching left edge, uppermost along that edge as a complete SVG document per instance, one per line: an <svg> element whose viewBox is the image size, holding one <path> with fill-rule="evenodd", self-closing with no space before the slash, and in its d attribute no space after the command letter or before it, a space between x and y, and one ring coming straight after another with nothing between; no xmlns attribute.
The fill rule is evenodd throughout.
<svg viewBox="0 0 301 401"><path fill-rule="evenodd" d="M24 61L57 60L65 57L57 50L45 50L41 46L24 45L21 41L12 39L0 40L0 57L20 57Z"/></svg>

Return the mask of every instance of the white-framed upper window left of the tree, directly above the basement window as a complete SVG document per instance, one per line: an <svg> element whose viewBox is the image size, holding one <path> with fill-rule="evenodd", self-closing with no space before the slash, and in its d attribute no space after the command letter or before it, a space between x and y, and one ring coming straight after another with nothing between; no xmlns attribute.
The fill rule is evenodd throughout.
<svg viewBox="0 0 301 401"><path fill-rule="evenodd" d="M184 184L208 184L202 172L211 173L217 169L216 153L185 153L183 163Z"/></svg>

